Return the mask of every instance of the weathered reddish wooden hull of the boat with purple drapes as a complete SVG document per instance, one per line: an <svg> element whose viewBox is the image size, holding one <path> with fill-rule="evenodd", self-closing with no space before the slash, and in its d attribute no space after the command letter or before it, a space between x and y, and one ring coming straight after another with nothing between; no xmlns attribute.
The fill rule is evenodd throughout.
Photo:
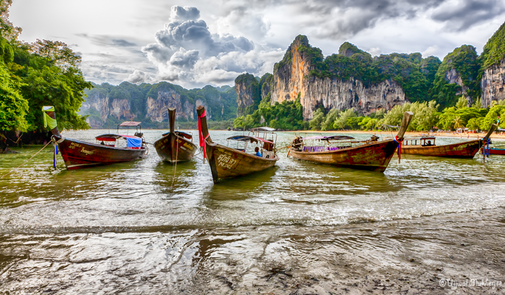
<svg viewBox="0 0 505 295"><path fill-rule="evenodd" d="M385 140L332 151L302 152L292 148L290 154L299 160L384 172L397 145L394 140Z"/></svg>

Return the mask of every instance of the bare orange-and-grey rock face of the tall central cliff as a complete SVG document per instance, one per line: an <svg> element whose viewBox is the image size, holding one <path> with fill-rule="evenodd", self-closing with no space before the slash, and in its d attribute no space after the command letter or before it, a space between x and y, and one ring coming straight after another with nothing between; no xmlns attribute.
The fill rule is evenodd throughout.
<svg viewBox="0 0 505 295"><path fill-rule="evenodd" d="M289 46L284 60L276 65L274 77L269 85L271 103L295 100L298 95L304 107L304 119L310 120L318 105L325 108L347 109L354 107L360 114L368 115L378 109L390 110L396 104L408 102L403 89L392 80L365 86L363 82L350 77L340 79L318 78L311 75L311 58L300 45L309 46L307 38L297 37Z"/></svg>

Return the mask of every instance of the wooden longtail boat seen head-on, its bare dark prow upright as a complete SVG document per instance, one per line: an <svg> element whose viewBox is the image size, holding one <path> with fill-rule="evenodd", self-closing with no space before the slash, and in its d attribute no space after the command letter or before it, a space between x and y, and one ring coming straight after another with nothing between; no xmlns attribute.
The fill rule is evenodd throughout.
<svg viewBox="0 0 505 295"><path fill-rule="evenodd" d="M170 132L163 134L163 137L154 143L158 156L170 164L191 160L197 150L196 145L191 142L193 136L185 132L174 131L175 108L168 109L168 117Z"/></svg>

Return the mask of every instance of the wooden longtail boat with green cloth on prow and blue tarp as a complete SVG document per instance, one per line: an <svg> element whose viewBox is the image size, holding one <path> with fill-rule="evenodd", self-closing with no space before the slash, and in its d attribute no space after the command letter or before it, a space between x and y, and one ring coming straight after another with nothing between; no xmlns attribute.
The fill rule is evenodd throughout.
<svg viewBox="0 0 505 295"><path fill-rule="evenodd" d="M42 107L45 122L51 128L53 136L51 137L62 154L67 169L79 169L99 165L108 165L119 162L127 162L142 158L147 147L142 140L142 134L136 133L135 136L104 134L96 137L100 144L93 144L80 140L65 138L60 134L56 125L55 109L53 106ZM118 125L127 127L137 127L140 122L124 122ZM118 139L126 140L126 147L116 147ZM107 144L106 144L107 142ZM114 144L111 144L114 142Z"/></svg>

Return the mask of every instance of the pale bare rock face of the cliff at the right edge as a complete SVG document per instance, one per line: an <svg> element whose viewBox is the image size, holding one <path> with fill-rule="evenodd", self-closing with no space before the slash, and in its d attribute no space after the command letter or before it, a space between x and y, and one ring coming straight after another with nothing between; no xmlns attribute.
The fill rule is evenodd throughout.
<svg viewBox="0 0 505 295"><path fill-rule="evenodd" d="M498 65L487 68L482 75L480 85L483 107L490 106L493 100L505 99L505 60L501 60Z"/></svg>

